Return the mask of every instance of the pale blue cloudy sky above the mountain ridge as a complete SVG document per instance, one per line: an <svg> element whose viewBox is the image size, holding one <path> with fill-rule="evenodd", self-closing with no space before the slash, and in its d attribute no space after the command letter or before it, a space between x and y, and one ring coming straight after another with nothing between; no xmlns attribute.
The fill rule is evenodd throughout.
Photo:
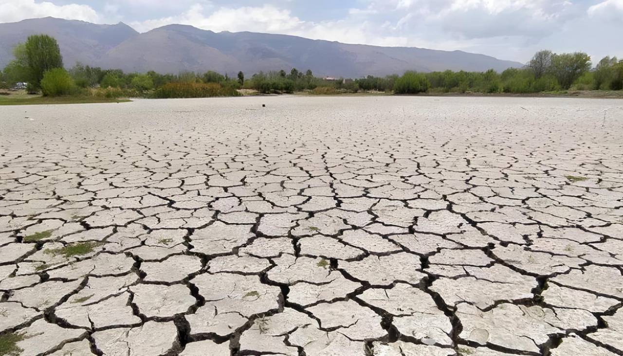
<svg viewBox="0 0 623 356"><path fill-rule="evenodd" d="M0 22L61 17L461 50L526 63L541 49L623 57L623 0L0 0Z"/></svg>

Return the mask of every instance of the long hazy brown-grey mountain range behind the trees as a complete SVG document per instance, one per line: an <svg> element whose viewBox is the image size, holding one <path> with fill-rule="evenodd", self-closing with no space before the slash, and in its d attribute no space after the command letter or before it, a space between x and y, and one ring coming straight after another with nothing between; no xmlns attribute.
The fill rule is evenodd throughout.
<svg viewBox="0 0 623 356"><path fill-rule="evenodd" d="M30 34L54 36L65 65L75 62L125 71L177 73L216 70L250 75L260 70L311 69L315 75L362 77L402 74L405 70L502 71L521 67L463 51L416 47L379 47L255 32L212 32L169 25L139 34L130 26L98 25L45 17L0 24L0 67L12 59L11 49Z"/></svg>

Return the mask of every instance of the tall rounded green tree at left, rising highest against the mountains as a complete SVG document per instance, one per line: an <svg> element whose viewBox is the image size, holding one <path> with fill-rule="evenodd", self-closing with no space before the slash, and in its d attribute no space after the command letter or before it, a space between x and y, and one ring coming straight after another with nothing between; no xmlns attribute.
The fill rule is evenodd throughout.
<svg viewBox="0 0 623 356"><path fill-rule="evenodd" d="M22 51L19 45L17 48L16 51ZM63 67L63 57L60 55L59 44L53 37L47 35L29 36L23 51L24 53L20 54L22 58L16 58L26 61L26 66L32 72L32 85L35 87L39 87L47 70Z"/></svg>

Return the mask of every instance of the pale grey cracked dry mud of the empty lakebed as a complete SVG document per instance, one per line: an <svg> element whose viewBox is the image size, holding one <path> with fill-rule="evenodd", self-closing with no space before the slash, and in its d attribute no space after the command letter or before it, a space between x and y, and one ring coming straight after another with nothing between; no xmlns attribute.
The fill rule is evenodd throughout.
<svg viewBox="0 0 623 356"><path fill-rule="evenodd" d="M0 126L2 355L623 355L619 100L136 100Z"/></svg>

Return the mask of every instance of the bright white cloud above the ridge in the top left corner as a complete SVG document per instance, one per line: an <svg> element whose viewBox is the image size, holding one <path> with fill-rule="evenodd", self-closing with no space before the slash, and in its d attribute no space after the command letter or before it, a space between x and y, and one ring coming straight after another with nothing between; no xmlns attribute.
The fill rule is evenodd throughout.
<svg viewBox="0 0 623 356"><path fill-rule="evenodd" d="M34 0L0 0L0 22L16 22L34 17L59 17L62 19L99 22L97 12L88 5L56 5Z"/></svg>

